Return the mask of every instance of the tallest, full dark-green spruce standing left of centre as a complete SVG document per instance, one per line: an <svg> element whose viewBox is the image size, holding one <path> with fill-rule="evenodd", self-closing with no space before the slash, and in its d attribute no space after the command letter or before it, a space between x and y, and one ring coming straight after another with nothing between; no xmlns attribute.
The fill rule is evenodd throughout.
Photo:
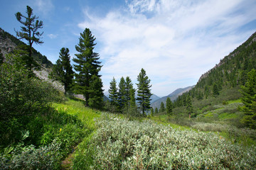
<svg viewBox="0 0 256 170"><path fill-rule="evenodd" d="M85 97L85 106L89 106L93 104L94 99L90 100L90 98L103 98L104 94L97 93L100 96L95 96L94 91L102 91L102 86L100 87L99 81L101 79L96 79L95 77L92 79L93 76L100 78L99 75L101 69L101 62L98 60L100 59L99 54L93 52L96 38L92 35L89 28L85 28L83 33L80 33L79 43L75 45L75 50L78 51L78 54L75 54L76 58L73 61L77 64L74 64L74 69L76 72L75 74L75 89L76 92L79 94L83 94ZM94 82L96 81L96 82ZM92 84L98 84L99 86L91 86ZM92 87L96 89L92 89Z"/></svg>

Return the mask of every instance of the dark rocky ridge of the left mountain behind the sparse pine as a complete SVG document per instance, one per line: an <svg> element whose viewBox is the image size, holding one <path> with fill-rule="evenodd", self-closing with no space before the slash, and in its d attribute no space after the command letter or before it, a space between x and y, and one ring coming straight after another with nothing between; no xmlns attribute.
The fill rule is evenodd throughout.
<svg viewBox="0 0 256 170"><path fill-rule="evenodd" d="M4 55L4 58L6 57L6 54L13 52L15 48L19 45L26 45L21 40L18 40L18 38L14 37L14 35L11 35L10 33L7 33L3 29L0 28L0 50L1 53ZM53 63L50 62L50 60L47 59L45 55L42 55L40 52L35 50L33 48L33 58L41 64L43 67L51 68L53 67Z"/></svg>

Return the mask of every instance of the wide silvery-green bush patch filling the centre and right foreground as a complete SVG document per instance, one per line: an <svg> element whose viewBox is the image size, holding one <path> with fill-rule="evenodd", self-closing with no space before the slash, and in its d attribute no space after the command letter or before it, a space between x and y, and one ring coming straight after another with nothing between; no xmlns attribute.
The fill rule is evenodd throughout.
<svg viewBox="0 0 256 170"><path fill-rule="evenodd" d="M211 132L102 115L74 169L256 169L256 147L232 145Z"/></svg>

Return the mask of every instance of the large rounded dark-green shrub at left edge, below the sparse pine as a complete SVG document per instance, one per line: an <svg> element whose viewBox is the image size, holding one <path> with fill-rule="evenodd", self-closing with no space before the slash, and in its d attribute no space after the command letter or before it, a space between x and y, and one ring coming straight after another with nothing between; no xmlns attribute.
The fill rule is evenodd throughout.
<svg viewBox="0 0 256 170"><path fill-rule="evenodd" d="M48 82L28 78L29 72L13 61L16 58L7 57L0 67L1 120L31 115L59 96Z"/></svg>

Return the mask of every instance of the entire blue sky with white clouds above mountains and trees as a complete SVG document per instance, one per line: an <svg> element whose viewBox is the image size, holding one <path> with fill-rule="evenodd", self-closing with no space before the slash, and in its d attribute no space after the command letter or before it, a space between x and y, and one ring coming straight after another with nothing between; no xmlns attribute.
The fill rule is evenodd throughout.
<svg viewBox="0 0 256 170"><path fill-rule="evenodd" d="M26 6L43 21L42 45L33 47L55 64L62 47L75 57L80 33L90 28L108 91L113 77L137 88L142 68L151 93L167 96L195 85L256 31L255 0L0 0L0 28L15 35L16 12ZM73 63L73 62L72 62ZM74 64L74 63L73 63Z"/></svg>

